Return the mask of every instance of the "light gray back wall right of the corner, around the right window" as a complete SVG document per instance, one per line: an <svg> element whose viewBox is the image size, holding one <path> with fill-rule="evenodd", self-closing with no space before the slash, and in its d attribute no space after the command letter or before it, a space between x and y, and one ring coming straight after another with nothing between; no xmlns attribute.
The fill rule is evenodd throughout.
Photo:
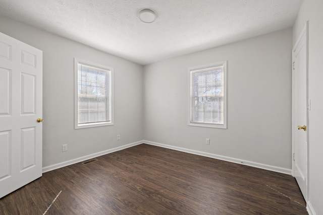
<svg viewBox="0 0 323 215"><path fill-rule="evenodd" d="M291 173L291 50L287 29L144 66L144 139ZM188 67L224 60L228 129L188 126Z"/></svg>

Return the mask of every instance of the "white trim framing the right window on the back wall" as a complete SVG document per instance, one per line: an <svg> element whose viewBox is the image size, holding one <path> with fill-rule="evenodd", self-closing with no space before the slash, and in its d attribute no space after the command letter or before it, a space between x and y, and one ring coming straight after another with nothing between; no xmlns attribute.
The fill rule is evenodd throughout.
<svg viewBox="0 0 323 215"><path fill-rule="evenodd" d="M192 71L195 70L202 70L202 69L207 69L207 68L212 68L212 67L217 67L217 66L223 66L223 70L224 70L224 122L223 124L210 124L210 123L197 123L197 122L191 122L191 73ZM189 126L199 126L199 127L209 127L209 128L222 128L222 129L227 129L227 123L228 123L228 111L227 111L227 107L228 107L228 79L227 79L227 60L226 61L221 61L221 62L217 62L217 63L211 63L211 64L206 64L206 65L200 65L200 66L194 66L194 67L189 67L188 68L188 125Z"/></svg>

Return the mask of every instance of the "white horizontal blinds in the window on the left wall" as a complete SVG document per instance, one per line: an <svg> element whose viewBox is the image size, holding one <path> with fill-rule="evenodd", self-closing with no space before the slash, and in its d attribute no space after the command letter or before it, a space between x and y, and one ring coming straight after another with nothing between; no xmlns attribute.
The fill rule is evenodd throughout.
<svg viewBox="0 0 323 215"><path fill-rule="evenodd" d="M78 63L78 124L109 122L111 70Z"/></svg>

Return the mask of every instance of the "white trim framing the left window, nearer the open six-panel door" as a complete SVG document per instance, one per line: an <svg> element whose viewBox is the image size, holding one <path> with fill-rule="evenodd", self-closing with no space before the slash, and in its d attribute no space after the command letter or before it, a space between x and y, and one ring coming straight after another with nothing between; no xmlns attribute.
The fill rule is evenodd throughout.
<svg viewBox="0 0 323 215"><path fill-rule="evenodd" d="M88 124L78 124L78 64L85 64L88 66L98 67L103 70L110 70L111 77L110 77L110 121L109 122L94 122ZM105 65L100 65L97 63L89 62L86 60L81 60L78 58L74 58L74 128L89 128L89 127L98 127L98 126L107 126L107 125L114 125L114 69L112 67L108 67Z"/></svg>

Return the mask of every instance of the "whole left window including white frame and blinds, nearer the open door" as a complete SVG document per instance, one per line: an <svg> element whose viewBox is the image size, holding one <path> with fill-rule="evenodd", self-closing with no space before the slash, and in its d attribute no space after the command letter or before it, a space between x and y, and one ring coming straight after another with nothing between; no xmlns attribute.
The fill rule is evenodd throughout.
<svg viewBox="0 0 323 215"><path fill-rule="evenodd" d="M75 61L75 129L113 124L113 68Z"/></svg>

